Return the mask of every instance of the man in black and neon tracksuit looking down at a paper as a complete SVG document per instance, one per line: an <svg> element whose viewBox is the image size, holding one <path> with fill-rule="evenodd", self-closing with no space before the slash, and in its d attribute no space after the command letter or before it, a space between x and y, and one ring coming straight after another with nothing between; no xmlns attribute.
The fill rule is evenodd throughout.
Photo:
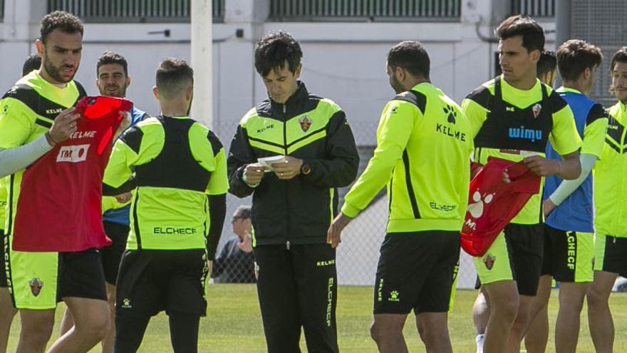
<svg viewBox="0 0 627 353"><path fill-rule="evenodd" d="M271 353L300 352L301 327L309 352L338 352L336 252L326 231L336 188L353 182L359 163L344 112L298 81L301 57L284 31L259 41L255 68L269 99L244 115L227 160L229 191L253 195L257 290ZM284 161L272 168L257 163L276 155Z"/></svg>

